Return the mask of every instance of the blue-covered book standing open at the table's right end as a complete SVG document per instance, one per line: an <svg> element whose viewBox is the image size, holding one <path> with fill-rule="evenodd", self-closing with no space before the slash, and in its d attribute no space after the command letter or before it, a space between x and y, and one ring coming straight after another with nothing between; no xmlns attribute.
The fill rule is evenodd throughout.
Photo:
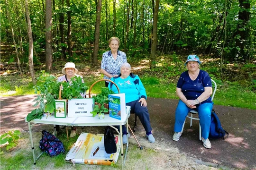
<svg viewBox="0 0 256 170"><path fill-rule="evenodd" d="M110 117L121 120L126 114L125 93L109 94Z"/></svg>

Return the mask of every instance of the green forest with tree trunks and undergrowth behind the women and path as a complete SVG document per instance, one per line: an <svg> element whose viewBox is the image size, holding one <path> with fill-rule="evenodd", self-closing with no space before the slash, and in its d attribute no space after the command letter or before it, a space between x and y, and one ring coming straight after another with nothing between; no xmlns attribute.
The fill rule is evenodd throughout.
<svg viewBox="0 0 256 170"><path fill-rule="evenodd" d="M144 79L175 84L186 56L197 54L212 78L242 80L238 86L255 95L256 0L2 0L0 23L1 63L19 60L32 80L31 66L51 72L71 61L99 69L117 36L129 62L151 60L139 73Z"/></svg>

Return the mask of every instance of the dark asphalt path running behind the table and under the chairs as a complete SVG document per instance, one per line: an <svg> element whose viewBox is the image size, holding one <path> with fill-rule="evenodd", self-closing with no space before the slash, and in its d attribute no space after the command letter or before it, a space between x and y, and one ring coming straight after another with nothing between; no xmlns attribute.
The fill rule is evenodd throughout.
<svg viewBox="0 0 256 170"><path fill-rule="evenodd" d="M34 109L32 105L36 95L11 96L0 98L0 133L10 129L28 131L24 121L27 113ZM229 132L225 140L211 140L211 149L203 147L199 140L199 121L187 119L183 134L178 142L172 140L174 134L175 109L178 100L147 99L151 126L156 142L164 140L177 147L181 153L188 156L196 155L197 159L217 163L235 169L256 170L256 110L229 106L214 105L222 127ZM131 116L129 124L133 127L135 116ZM139 129L143 129L138 120ZM33 131L52 129L52 125L37 124ZM136 135L140 135L135 132Z"/></svg>

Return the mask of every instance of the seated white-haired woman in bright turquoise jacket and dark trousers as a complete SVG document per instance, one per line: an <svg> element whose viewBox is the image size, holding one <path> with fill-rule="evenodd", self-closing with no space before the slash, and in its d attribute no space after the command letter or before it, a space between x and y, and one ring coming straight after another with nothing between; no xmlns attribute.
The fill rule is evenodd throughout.
<svg viewBox="0 0 256 170"><path fill-rule="evenodd" d="M152 135L152 127L150 125L149 114L146 103L146 90L142 85L139 77L131 73L131 66L125 62L120 67L120 75L112 77L111 80L116 83L120 93L125 93L125 102L127 106L131 107L131 113L135 113L143 127L146 130L146 137L149 142L154 143L155 138ZM118 89L113 83L110 82L109 88L115 93L118 93ZM127 143L127 129L126 126L122 126L123 130L123 144ZM129 136L129 134L128 134Z"/></svg>

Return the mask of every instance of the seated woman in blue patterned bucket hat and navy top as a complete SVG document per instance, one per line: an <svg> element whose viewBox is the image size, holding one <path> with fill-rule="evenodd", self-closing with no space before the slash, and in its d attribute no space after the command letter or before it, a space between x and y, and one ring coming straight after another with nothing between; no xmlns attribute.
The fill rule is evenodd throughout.
<svg viewBox="0 0 256 170"><path fill-rule="evenodd" d="M176 94L180 98L175 111L175 124L173 140L178 141L182 135L183 123L190 110L197 110L202 130L203 146L210 149L208 139L210 132L210 118L213 102L212 85L210 76L200 69L201 61L197 55L189 55L185 66L188 69L183 72L178 80Z"/></svg>

